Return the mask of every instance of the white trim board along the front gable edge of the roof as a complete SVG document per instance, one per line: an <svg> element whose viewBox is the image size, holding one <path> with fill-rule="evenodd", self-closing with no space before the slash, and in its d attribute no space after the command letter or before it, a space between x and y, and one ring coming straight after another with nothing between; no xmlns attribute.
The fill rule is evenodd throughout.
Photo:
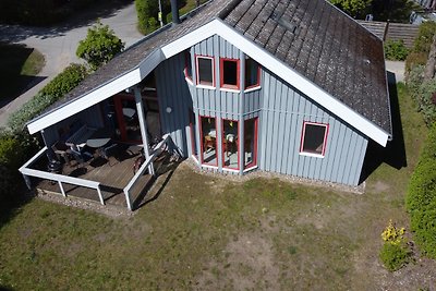
<svg viewBox="0 0 436 291"><path fill-rule="evenodd" d="M175 39L174 41L171 41L160 49L157 49L148 58L142 61L137 69L133 70L132 72L109 82L108 84L94 92L90 92L87 95L84 95L82 98L78 98L71 104L60 107L59 109L35 120L34 122L31 122L28 124L31 134L68 117L71 117L87 107L100 102L101 100L140 83L142 78L144 78L146 74L154 70L161 61L169 59L214 35L218 35L233 46L238 47L256 62L281 77L298 90L302 92L308 98L313 99L315 102L319 104L335 116L340 117L344 122L355 128L379 145L386 146L389 138L389 134L387 132L332 97L330 94L326 93L317 85L313 84L293 69L277 60L265 49L245 38L243 35L238 33L234 28L228 26L219 19L215 19L199 28Z"/></svg>

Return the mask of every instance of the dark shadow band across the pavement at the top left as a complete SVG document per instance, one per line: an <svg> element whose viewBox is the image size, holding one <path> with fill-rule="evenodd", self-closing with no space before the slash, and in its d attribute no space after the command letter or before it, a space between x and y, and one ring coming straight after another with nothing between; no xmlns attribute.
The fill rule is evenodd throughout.
<svg viewBox="0 0 436 291"><path fill-rule="evenodd" d="M0 41L19 43L29 37L51 38L64 36L65 32L74 28L89 26L98 19L107 19L131 4L132 0L108 0L98 1L80 11L73 10L64 21L48 27L24 26L24 25L0 25Z"/></svg>

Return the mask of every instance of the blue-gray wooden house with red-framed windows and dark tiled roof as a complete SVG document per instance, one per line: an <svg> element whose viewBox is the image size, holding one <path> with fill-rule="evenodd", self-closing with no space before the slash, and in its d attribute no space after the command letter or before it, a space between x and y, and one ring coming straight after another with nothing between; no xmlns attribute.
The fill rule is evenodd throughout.
<svg viewBox="0 0 436 291"><path fill-rule="evenodd" d="M146 157L166 136L204 170L358 185L368 142L391 140L382 40L327 1L215 0L173 20L27 124L46 151L80 120Z"/></svg>

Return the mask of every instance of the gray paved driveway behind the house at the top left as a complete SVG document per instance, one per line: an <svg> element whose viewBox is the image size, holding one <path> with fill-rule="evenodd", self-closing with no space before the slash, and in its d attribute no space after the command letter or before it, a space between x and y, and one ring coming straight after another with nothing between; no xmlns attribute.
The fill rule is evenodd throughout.
<svg viewBox="0 0 436 291"><path fill-rule="evenodd" d="M17 110L31 99L50 80L72 62L83 62L75 56L78 41L86 37L88 27L100 17L108 24L125 46L130 46L143 36L136 31L136 10L134 3L123 8L108 8L106 11L83 13L77 20L51 28L0 25L0 41L25 44L36 48L46 58L46 65L38 74L46 77L20 97L0 109L0 126L4 126L11 112Z"/></svg>

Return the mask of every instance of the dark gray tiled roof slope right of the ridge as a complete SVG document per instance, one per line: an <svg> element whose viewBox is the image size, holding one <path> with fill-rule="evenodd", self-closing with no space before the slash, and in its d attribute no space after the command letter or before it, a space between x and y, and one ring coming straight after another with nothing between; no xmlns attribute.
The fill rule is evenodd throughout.
<svg viewBox="0 0 436 291"><path fill-rule="evenodd" d="M233 1L221 19L391 134L383 43L324 0Z"/></svg>

